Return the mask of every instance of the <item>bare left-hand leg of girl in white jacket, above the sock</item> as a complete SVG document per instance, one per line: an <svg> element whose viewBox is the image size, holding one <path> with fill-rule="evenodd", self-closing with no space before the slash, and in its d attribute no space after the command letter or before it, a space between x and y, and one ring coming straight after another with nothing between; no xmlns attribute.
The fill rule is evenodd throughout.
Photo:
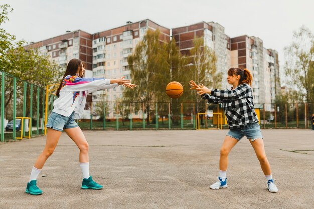
<svg viewBox="0 0 314 209"><path fill-rule="evenodd" d="M58 144L59 138L61 136L61 133L62 133L61 131L57 131L57 130L54 130L52 128L48 128L46 146L45 146L43 152L37 158L37 160L34 164L34 167L36 167L38 169L43 168L48 157L50 157L50 155L52 155L52 153L54 152L54 150Z"/></svg>

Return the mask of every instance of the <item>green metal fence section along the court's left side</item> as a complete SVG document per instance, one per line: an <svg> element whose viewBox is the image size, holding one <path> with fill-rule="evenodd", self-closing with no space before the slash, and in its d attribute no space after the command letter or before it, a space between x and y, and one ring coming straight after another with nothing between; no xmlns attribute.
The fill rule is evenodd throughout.
<svg viewBox="0 0 314 209"><path fill-rule="evenodd" d="M32 136L44 133L45 89L27 81L16 78L6 72L1 74L1 141ZM17 117L30 117L31 130L24 131L16 127ZM5 120L13 121L12 131L6 131ZM15 128L16 127L16 128ZM36 127L36 128L35 128Z"/></svg>

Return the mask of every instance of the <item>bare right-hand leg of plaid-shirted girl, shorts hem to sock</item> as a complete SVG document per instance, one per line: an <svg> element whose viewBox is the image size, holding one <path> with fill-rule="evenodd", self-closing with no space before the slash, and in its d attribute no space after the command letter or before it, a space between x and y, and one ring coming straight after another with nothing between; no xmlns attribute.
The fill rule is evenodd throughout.
<svg viewBox="0 0 314 209"><path fill-rule="evenodd" d="M249 141L250 141L252 147L254 148L254 151L256 153L256 156L259 160L260 166L261 166L264 174L270 175L271 169L270 169L270 165L269 165L269 162L267 160L267 157L266 157L263 139L258 138L258 139L255 139L253 142L251 140L249 140Z"/></svg>

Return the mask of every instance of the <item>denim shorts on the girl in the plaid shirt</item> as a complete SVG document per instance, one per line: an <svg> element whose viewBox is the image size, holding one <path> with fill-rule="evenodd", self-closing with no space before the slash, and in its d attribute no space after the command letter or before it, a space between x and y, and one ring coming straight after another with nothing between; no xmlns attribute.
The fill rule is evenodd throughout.
<svg viewBox="0 0 314 209"><path fill-rule="evenodd" d="M230 129L229 132L227 133L227 136L235 138L238 141L240 141L243 136L246 136L248 139L251 139L252 142L255 139L263 138L258 123L251 123L247 125L245 128L241 129Z"/></svg>

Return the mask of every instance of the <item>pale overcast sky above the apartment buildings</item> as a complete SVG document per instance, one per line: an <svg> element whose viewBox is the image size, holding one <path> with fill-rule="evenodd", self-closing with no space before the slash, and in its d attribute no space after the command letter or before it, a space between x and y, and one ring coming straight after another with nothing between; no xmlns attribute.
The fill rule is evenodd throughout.
<svg viewBox="0 0 314 209"><path fill-rule="evenodd" d="M169 29L213 21L231 38L262 39L265 48L278 51L281 67L292 32L302 25L314 31L312 0L0 0L0 4L14 9L3 27L18 40L38 42L78 29L96 33L144 19Z"/></svg>

